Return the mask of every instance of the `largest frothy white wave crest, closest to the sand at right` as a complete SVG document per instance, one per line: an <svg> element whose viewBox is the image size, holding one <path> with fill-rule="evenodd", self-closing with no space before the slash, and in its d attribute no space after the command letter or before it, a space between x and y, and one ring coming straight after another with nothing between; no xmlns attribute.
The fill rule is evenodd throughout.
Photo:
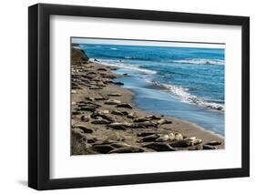
<svg viewBox="0 0 256 194"><path fill-rule="evenodd" d="M202 99L200 99L200 97L190 94L188 88L177 87L177 86L168 85L168 84L161 84L159 82L153 82L153 84L158 87L168 89L172 94L179 97L179 99L183 102L196 104L200 107L209 107L209 108L217 109L221 111L225 110L224 105L220 105L218 103L212 103L212 102L205 102Z"/></svg>

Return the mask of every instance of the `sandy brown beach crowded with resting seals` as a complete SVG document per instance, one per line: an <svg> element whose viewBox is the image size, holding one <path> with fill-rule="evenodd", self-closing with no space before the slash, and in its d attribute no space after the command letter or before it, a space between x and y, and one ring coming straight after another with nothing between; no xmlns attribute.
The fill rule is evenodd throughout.
<svg viewBox="0 0 256 194"><path fill-rule="evenodd" d="M115 79L116 67L71 47L71 154L113 154L224 148L224 139L193 123L145 112Z"/></svg>

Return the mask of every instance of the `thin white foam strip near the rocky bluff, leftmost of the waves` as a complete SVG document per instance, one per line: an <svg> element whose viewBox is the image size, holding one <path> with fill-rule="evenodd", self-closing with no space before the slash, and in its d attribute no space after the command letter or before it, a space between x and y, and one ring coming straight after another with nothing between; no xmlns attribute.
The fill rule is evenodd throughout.
<svg viewBox="0 0 256 194"><path fill-rule="evenodd" d="M116 67L120 67L120 68L127 68L127 69L142 72L144 74L157 74L156 71L149 70L149 69L139 67L139 66L136 66L136 65L124 64L124 63L118 62L116 60L115 61L114 60L106 60L106 59L97 59L97 60L100 64L106 65L106 66L116 66Z"/></svg>

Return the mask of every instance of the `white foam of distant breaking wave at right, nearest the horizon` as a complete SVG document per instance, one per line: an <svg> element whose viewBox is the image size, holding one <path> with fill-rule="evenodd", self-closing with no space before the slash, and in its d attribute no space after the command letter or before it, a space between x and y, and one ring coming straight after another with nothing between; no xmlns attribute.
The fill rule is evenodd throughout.
<svg viewBox="0 0 256 194"><path fill-rule="evenodd" d="M225 62L221 59L208 59L208 58L186 58L182 60L173 60L175 63L180 64L195 64L195 65L219 65L224 66Z"/></svg>

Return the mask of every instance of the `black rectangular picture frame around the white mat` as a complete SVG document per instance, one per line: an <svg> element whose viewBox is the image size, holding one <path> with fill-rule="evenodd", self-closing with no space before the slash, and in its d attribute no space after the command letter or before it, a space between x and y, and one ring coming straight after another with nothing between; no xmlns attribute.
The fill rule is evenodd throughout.
<svg viewBox="0 0 256 194"><path fill-rule="evenodd" d="M148 21L241 26L242 124L241 168L206 169L72 179L49 178L49 19L50 15L91 16ZM250 176L250 18L78 5L37 4L28 8L28 186L69 189L180 180L224 179Z"/></svg>

